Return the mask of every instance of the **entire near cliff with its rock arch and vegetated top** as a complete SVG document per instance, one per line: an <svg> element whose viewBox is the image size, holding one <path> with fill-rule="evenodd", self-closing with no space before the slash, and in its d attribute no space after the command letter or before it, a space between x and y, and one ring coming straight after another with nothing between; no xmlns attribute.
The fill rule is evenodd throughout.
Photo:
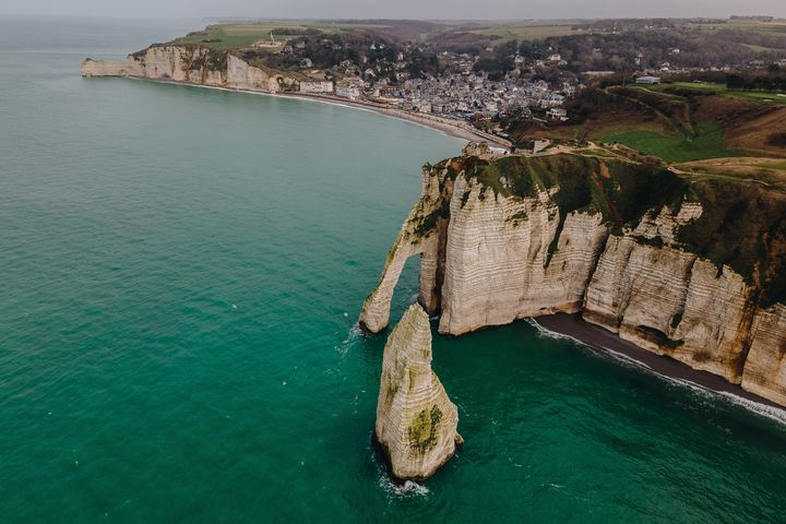
<svg viewBox="0 0 786 524"><path fill-rule="evenodd" d="M460 335L581 312L620 337L786 405L786 194L580 154L424 169L361 324L379 332L406 259Z"/></svg>

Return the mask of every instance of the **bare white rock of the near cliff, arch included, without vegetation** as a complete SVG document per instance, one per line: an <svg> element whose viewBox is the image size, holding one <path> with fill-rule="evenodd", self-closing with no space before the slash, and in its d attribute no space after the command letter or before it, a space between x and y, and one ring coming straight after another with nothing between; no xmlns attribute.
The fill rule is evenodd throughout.
<svg viewBox="0 0 786 524"><path fill-rule="evenodd" d="M420 253L419 300L441 311L440 333L581 312L645 349L786 405L786 306L761 309L750 281L680 243L679 229L704 213L700 203L650 210L610 235L599 213L568 213L560 229L557 187L505 196L463 171L453 181L446 170L427 170L425 180L365 303L370 331L386 326L401 267ZM445 205L413 243L418 209Z"/></svg>

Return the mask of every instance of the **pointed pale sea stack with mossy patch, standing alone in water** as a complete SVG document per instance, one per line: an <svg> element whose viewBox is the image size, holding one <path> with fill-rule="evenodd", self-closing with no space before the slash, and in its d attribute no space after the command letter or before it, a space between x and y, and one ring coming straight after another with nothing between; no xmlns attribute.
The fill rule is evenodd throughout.
<svg viewBox="0 0 786 524"><path fill-rule="evenodd" d="M388 338L374 439L398 480L425 480L455 453L458 410L431 370L428 314L415 303Z"/></svg>

